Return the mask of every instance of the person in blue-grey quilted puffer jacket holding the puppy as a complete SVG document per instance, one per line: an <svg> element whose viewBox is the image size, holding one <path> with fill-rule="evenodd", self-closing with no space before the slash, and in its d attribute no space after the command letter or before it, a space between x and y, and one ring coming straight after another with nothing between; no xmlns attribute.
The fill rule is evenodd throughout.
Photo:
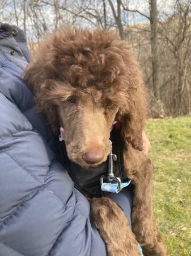
<svg viewBox="0 0 191 256"><path fill-rule="evenodd" d="M29 59L23 31L0 23L0 256L106 256L21 78ZM130 224L131 187L111 197Z"/></svg>

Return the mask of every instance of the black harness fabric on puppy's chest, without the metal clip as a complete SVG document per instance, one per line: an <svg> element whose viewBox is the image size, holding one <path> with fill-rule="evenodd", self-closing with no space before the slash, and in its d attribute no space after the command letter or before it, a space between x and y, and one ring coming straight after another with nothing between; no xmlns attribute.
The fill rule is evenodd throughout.
<svg viewBox="0 0 191 256"><path fill-rule="evenodd" d="M111 140L113 141L113 154L117 156L117 161L113 162L114 175L120 177L121 180L126 180L123 143L120 139L116 139L116 134L113 133L111 134ZM65 143L59 141L57 141L57 157L74 181L75 188L83 193L84 196L91 198L107 196L109 194L108 192L101 191L100 185L100 177L108 174L108 161L94 168L83 168L67 158Z"/></svg>

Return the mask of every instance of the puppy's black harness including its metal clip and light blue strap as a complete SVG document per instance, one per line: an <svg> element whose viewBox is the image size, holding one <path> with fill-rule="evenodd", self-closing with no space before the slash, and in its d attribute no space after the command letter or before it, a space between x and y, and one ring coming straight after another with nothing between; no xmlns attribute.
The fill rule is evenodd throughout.
<svg viewBox="0 0 191 256"><path fill-rule="evenodd" d="M105 192L118 193L130 184L124 168L124 142L118 130L111 131L111 154L97 167L83 168L67 157L65 142L58 141L58 160L63 164L77 188L87 197L101 197Z"/></svg>

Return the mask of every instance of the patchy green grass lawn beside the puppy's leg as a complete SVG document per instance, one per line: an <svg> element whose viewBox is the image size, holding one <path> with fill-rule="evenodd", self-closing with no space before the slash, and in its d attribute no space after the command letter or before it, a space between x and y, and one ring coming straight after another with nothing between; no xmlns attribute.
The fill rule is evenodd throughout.
<svg viewBox="0 0 191 256"><path fill-rule="evenodd" d="M171 256L191 255L191 116L146 123L154 214Z"/></svg>

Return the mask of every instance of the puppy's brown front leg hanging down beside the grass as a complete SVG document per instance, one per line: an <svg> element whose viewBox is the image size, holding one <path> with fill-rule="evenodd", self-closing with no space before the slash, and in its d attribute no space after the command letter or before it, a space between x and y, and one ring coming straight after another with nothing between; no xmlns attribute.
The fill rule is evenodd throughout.
<svg viewBox="0 0 191 256"><path fill-rule="evenodd" d="M154 223L152 212L152 166L150 159L130 145L124 154L125 169L133 181L132 230L145 256L167 256L167 247Z"/></svg>

